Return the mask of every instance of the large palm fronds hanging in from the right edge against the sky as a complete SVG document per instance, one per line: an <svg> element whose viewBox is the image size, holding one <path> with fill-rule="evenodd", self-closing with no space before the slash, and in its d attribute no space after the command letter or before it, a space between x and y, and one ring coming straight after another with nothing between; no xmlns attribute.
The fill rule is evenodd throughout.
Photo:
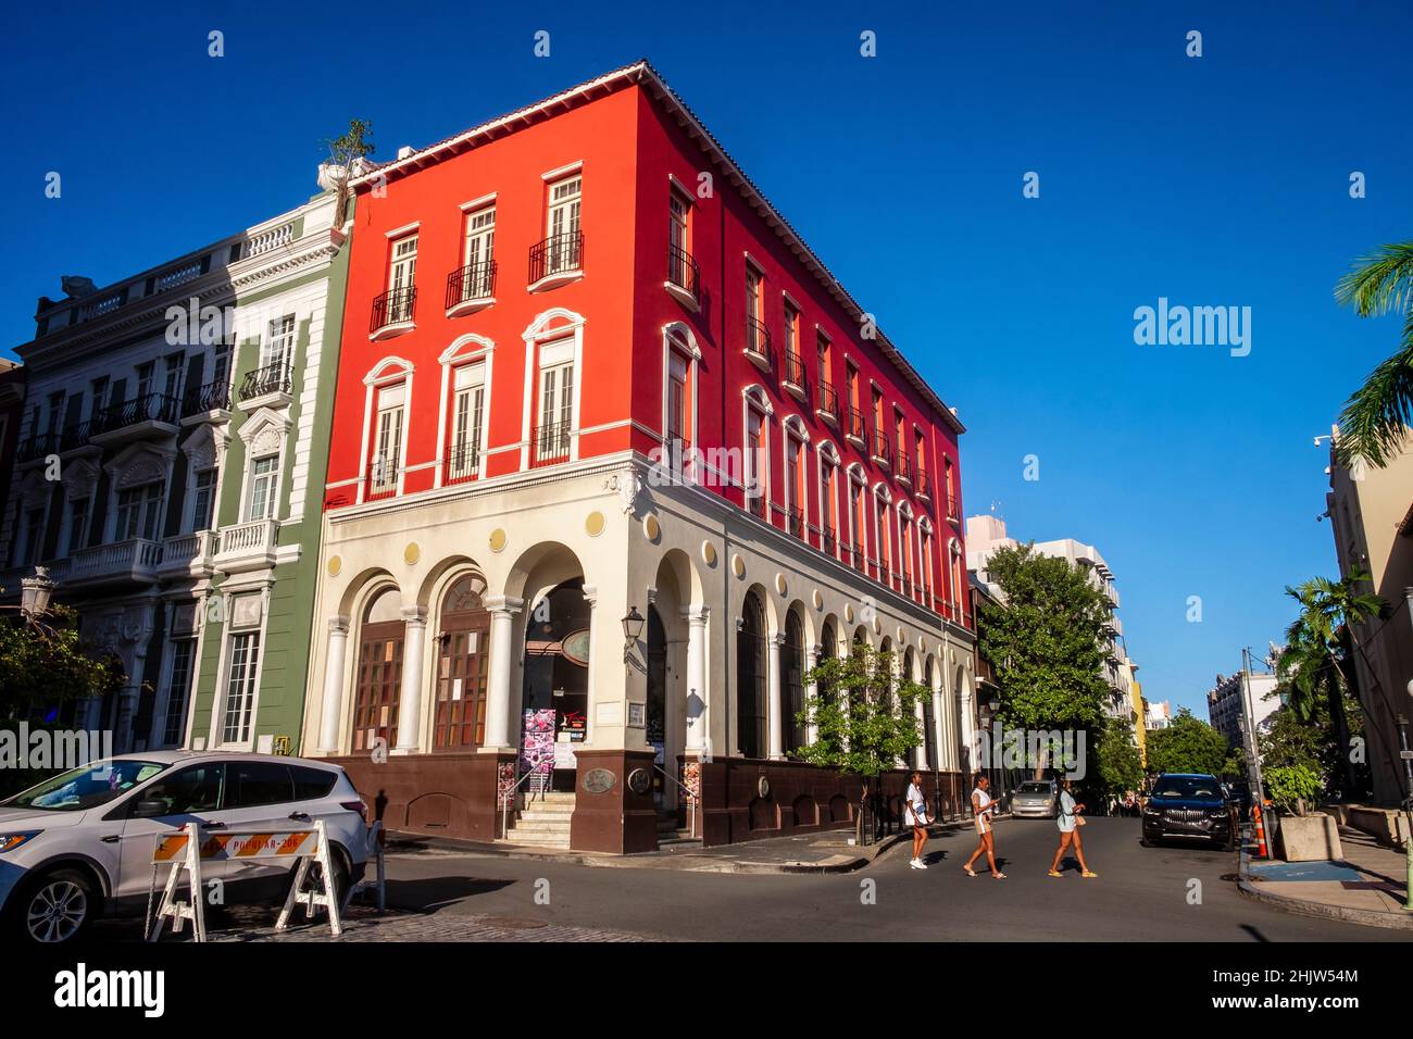
<svg viewBox="0 0 1413 1039"><path fill-rule="evenodd" d="M1361 318L1399 311L1403 336L1393 356L1375 368L1340 414L1335 454L1383 468L1399 452L1413 421L1413 242L1382 246L1340 278L1334 298Z"/></svg>

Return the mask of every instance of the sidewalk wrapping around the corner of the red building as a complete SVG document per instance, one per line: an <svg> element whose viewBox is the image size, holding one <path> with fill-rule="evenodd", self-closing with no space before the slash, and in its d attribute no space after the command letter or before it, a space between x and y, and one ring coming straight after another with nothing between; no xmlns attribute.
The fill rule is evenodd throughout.
<svg viewBox="0 0 1413 1039"><path fill-rule="evenodd" d="M1000 816L1000 818L1005 817ZM938 838L971 828L969 818L937 823L928 827L928 835ZM904 830L863 847L851 844L853 830L827 830L800 837L767 837L759 841L722 844L714 848L704 848L695 841L687 841L636 855L610 855L596 851L558 851L527 844L492 844L390 833L387 835L387 855L389 858L400 855L499 855L608 869L681 869L702 874L846 874L862 869L897 844L911 841L913 833Z"/></svg>

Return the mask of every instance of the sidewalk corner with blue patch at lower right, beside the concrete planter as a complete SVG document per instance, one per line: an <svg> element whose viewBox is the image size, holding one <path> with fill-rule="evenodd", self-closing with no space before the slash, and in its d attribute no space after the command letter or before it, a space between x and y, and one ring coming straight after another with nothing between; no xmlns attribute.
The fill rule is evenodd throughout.
<svg viewBox="0 0 1413 1039"><path fill-rule="evenodd" d="M1403 908L1407 861L1369 834L1340 827L1344 858L1324 862L1263 862L1241 854L1238 888L1259 902L1306 916L1324 916L1369 927L1413 930Z"/></svg>

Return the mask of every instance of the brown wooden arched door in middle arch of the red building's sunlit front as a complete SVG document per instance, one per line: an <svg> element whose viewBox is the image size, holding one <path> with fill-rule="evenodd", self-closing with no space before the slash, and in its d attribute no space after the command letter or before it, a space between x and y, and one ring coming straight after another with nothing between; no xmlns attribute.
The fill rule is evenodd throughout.
<svg viewBox="0 0 1413 1039"><path fill-rule="evenodd" d="M434 751L476 748L486 738L490 614L482 604L485 591L486 582L479 574L466 574L442 597Z"/></svg>

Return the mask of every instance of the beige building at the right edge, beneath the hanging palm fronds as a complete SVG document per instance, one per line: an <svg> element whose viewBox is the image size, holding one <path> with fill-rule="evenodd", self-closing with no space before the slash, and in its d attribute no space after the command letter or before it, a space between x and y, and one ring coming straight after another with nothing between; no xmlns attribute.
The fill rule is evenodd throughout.
<svg viewBox="0 0 1413 1039"><path fill-rule="evenodd" d="M1352 471L1330 447L1325 496L1340 575L1369 574L1365 585L1386 604L1386 616L1354 625L1355 679L1364 704L1373 796L1397 804L1409 794L1400 724L1413 720L1413 431L1382 469Z"/></svg>

